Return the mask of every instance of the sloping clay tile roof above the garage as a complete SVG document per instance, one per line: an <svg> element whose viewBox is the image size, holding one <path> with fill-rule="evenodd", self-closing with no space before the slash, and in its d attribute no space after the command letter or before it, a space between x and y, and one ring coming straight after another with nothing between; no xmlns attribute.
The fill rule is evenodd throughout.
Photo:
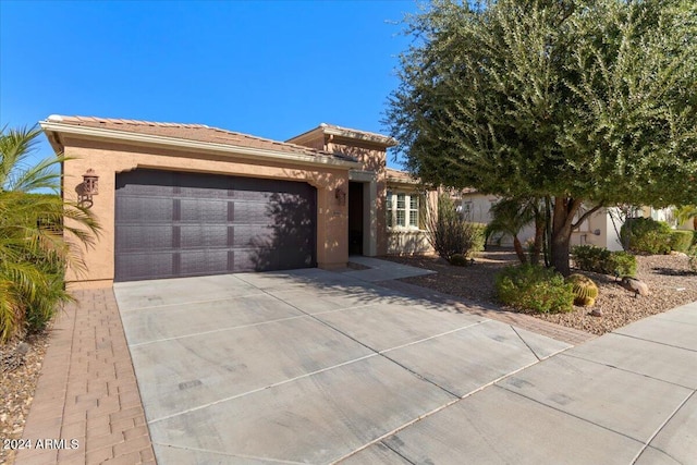
<svg viewBox="0 0 697 465"><path fill-rule="evenodd" d="M105 130L131 132L137 134L163 136L195 140L203 143L227 144L236 147L260 148L288 154L306 155L311 157L330 157L342 160L356 161L355 158L345 155L330 154L323 150L316 150L302 145L281 143L268 138L252 136L248 134L235 133L205 124L188 123L159 123L152 121L121 120L112 118L95 117L63 117L51 115L49 121L63 124L74 124L78 126L101 127Z"/></svg>

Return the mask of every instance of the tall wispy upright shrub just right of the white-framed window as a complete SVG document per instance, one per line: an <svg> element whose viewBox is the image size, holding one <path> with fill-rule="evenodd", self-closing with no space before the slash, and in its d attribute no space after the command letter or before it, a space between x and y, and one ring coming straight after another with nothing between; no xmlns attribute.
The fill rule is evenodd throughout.
<svg viewBox="0 0 697 465"><path fill-rule="evenodd" d="M448 195L438 198L438 211L427 216L426 230L431 247L448 261L454 255L468 258L484 249L485 225L465 221Z"/></svg>

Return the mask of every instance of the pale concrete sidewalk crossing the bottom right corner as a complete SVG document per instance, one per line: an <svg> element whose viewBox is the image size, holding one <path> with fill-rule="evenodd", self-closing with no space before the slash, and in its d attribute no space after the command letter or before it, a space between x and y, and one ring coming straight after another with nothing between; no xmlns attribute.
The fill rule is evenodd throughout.
<svg viewBox="0 0 697 465"><path fill-rule="evenodd" d="M693 303L542 360L346 462L695 464L696 389Z"/></svg>

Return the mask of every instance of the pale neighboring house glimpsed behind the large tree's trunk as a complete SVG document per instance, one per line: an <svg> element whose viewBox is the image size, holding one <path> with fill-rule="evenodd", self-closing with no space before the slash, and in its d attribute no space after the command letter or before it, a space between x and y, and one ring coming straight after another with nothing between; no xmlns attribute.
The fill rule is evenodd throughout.
<svg viewBox="0 0 697 465"><path fill-rule="evenodd" d="M463 217L469 221L489 223L492 219L490 208L499 200L494 195L484 195L476 189L465 189L460 194L461 209ZM653 218L655 220L672 222L672 209L655 209L641 207L635 212L636 216ZM578 225L571 236L571 245L589 244L604 247L610 250L622 250L620 242L620 228L622 227L622 216L616 208L601 208ZM535 237L534 225L524 228L518 234L522 243L533 241ZM490 238L500 245L512 245L513 238L505 234L494 234Z"/></svg>

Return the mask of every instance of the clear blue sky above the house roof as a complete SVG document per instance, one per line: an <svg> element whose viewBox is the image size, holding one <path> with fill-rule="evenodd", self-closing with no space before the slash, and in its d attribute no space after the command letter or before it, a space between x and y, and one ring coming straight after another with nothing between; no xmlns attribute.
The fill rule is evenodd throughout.
<svg viewBox="0 0 697 465"><path fill-rule="evenodd" d="M414 1L0 1L0 125L49 114L284 140L386 133ZM50 155L47 144L39 158ZM390 166L396 167L390 160Z"/></svg>

